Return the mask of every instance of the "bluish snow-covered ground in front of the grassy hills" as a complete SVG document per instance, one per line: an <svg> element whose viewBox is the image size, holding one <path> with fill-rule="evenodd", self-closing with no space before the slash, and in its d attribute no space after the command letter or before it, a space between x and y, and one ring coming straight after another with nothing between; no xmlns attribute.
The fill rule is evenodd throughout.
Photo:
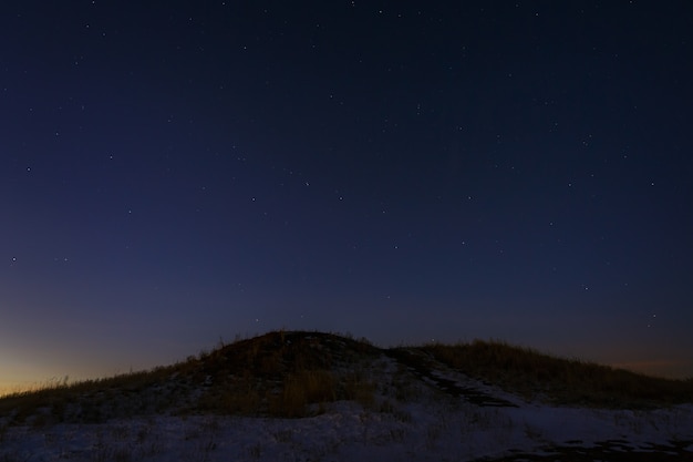
<svg viewBox="0 0 693 462"><path fill-rule="evenodd" d="M693 460L693 404L551 407L444 369L396 400L387 377L402 367L384 356L379 365L375 404L338 401L301 419L168 413L3 427L0 417L0 462ZM496 401L472 402L473 393L441 392L443 384Z"/></svg>

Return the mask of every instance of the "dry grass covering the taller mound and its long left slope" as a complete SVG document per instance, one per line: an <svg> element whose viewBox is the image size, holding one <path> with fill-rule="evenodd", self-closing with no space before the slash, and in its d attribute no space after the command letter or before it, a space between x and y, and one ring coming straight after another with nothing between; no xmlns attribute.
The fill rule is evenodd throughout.
<svg viewBox="0 0 693 462"><path fill-rule="evenodd" d="M302 417L317 412L312 404L368 402L369 386L335 370L376 351L331 333L275 331L168 367L13 393L0 398L0 418L42 427L153 412Z"/></svg>

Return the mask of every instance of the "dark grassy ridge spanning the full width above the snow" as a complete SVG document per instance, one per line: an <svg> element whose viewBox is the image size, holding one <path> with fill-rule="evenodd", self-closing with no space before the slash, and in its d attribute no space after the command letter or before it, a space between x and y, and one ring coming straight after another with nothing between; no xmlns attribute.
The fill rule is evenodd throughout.
<svg viewBox="0 0 693 462"><path fill-rule="evenodd" d="M449 373L506 397L561 405L644 409L693 402L691 379L652 378L498 341L382 349L333 333L272 331L172 366L0 398L0 424L147 414L298 418L342 400L393 412L395 402L422 389L479 405L514 405L513 398L461 386L446 378Z"/></svg>

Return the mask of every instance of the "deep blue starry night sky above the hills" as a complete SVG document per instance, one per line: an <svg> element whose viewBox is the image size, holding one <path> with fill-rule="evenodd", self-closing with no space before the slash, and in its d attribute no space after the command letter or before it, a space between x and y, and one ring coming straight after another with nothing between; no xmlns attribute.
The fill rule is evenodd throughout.
<svg viewBox="0 0 693 462"><path fill-rule="evenodd" d="M28 0L0 388L319 329L693 376L684 1Z"/></svg>

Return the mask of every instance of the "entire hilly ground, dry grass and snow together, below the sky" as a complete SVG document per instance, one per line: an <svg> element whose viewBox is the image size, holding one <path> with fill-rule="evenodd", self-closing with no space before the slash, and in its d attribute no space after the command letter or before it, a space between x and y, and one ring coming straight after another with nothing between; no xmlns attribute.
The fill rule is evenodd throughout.
<svg viewBox="0 0 693 462"><path fill-rule="evenodd" d="M252 429L252 442L231 423ZM199 460L348 460L353 448L366 460L645 449L681 460L693 456L693 381L498 341L379 348L334 333L272 331L149 371L0 399L0 442L11 448L0 450L2 460L37 455L38 433L55 434L42 451L44 460L58 459L54 446L75 429L86 435L72 459L94 459L106 444L94 435L103 440L114 428L123 434L106 439L112 453L103 460L173 460L188 440L207 442L196 446ZM162 437L186 431L197 437ZM152 448L153 435L161 448ZM308 455L277 452L298 449Z"/></svg>

